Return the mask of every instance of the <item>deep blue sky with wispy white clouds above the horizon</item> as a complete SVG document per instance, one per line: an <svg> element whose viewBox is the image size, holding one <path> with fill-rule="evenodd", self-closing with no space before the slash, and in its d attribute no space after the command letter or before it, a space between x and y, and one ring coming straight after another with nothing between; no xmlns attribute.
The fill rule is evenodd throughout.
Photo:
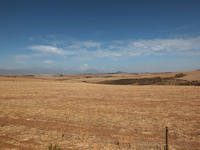
<svg viewBox="0 0 200 150"><path fill-rule="evenodd" d="M0 69L200 69L199 0L1 0Z"/></svg>

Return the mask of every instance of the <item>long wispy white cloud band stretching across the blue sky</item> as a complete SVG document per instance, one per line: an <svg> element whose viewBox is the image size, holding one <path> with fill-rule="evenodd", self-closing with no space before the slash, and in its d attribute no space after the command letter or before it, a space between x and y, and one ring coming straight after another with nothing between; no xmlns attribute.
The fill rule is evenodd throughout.
<svg viewBox="0 0 200 150"><path fill-rule="evenodd" d="M31 38L33 40L33 38ZM29 55L13 55L18 63L29 58L62 57L81 60L121 60L148 55L200 55L200 36L195 38L121 40L111 42L45 40L48 45L28 46ZM43 40L44 41L44 40ZM57 46L57 44L59 44Z"/></svg>

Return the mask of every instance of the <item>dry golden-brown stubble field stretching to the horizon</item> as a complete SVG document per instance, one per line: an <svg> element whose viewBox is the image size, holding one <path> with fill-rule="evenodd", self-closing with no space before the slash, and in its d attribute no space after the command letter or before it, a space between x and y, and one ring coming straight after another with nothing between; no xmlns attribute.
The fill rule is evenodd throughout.
<svg viewBox="0 0 200 150"><path fill-rule="evenodd" d="M91 84L82 81L104 78L86 76L1 76L0 149L164 150L166 126L170 150L200 149L200 86Z"/></svg>

